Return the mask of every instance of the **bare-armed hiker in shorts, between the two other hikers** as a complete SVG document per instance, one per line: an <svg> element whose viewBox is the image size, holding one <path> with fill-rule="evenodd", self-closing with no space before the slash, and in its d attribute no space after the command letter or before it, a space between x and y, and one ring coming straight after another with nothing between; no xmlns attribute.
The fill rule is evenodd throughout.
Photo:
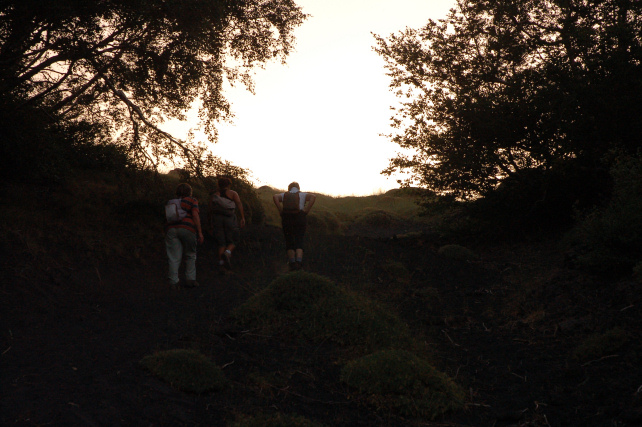
<svg viewBox="0 0 642 427"><path fill-rule="evenodd" d="M229 178L218 180L218 191L212 194L210 200L210 221L212 233L218 246L219 268L231 270L232 251L239 241L239 224L236 212L241 220L241 228L245 227L245 212L238 193L231 190L232 181Z"/></svg>

